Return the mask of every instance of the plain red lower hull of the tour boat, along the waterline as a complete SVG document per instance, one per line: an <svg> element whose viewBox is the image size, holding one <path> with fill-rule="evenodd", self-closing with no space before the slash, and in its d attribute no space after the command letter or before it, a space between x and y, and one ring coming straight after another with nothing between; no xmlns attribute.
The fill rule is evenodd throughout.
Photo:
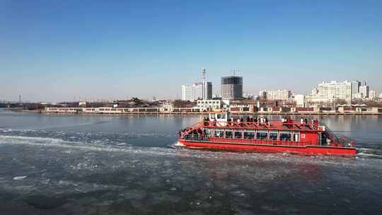
<svg viewBox="0 0 382 215"><path fill-rule="evenodd" d="M274 151L274 152L294 152L311 154L340 154L355 155L357 149L352 147L332 147L332 146L280 146L266 144L243 144L235 142L199 142L178 140L186 147L209 148L209 149L228 149L241 151Z"/></svg>

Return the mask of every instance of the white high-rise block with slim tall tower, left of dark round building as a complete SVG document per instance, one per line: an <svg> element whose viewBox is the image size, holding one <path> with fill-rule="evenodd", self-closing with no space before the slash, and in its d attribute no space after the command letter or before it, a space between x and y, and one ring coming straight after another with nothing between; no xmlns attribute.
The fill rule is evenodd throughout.
<svg viewBox="0 0 382 215"><path fill-rule="evenodd" d="M202 69L202 82L182 86L182 100L212 99L212 82L205 80L206 69Z"/></svg>

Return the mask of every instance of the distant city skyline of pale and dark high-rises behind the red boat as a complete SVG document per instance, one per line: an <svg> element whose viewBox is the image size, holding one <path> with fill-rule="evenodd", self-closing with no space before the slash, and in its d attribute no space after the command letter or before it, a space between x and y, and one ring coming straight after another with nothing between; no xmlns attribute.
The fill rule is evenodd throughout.
<svg viewBox="0 0 382 215"><path fill-rule="evenodd" d="M274 100L288 104L290 107L334 107L365 100L381 100L382 93L377 95L371 91L366 81L323 81L313 88L310 94L295 94L283 90L263 90L256 96L253 93L243 93L242 76L221 77L220 95L212 96L212 83L205 81L206 70L202 69L202 82L182 86L182 100L197 101L197 108L212 110L227 101L238 100ZM219 100L219 101L218 101ZM224 100L224 102L223 102Z"/></svg>

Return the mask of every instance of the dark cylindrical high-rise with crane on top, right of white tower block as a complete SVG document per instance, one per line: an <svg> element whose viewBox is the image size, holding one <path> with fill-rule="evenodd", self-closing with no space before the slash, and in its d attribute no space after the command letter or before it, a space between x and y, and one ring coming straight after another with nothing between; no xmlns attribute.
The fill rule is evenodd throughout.
<svg viewBox="0 0 382 215"><path fill-rule="evenodd" d="M221 98L225 100L238 100L243 98L243 77L221 77Z"/></svg>

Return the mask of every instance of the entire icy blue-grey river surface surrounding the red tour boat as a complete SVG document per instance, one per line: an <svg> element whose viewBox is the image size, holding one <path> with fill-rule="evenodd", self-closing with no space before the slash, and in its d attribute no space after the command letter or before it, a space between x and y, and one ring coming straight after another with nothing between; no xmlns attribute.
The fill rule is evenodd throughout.
<svg viewBox="0 0 382 215"><path fill-rule="evenodd" d="M199 118L0 110L0 214L380 213L382 117L323 117L355 158L166 148Z"/></svg>

